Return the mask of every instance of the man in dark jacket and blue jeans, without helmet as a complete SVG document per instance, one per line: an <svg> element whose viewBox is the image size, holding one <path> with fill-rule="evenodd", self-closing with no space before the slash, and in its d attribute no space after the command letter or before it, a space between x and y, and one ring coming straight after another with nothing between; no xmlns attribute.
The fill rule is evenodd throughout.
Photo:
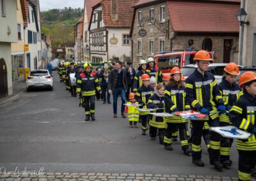
<svg viewBox="0 0 256 181"><path fill-rule="evenodd" d="M125 69L121 69L122 62L115 62L115 69L109 74L108 92L113 94L113 112L114 117L117 117L117 99L120 94L122 99L121 114L125 116L125 92L127 91L127 76Z"/></svg>

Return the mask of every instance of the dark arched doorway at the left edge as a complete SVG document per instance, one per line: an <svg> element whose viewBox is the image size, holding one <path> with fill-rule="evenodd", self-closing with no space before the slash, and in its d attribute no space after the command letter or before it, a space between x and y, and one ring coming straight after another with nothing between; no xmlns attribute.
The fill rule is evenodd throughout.
<svg viewBox="0 0 256 181"><path fill-rule="evenodd" d="M8 96L7 68L4 59L0 59L0 98Z"/></svg>

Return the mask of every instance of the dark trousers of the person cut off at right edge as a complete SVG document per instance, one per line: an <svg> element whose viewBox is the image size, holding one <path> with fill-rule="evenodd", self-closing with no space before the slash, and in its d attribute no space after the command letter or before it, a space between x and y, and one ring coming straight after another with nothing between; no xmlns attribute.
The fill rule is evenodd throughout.
<svg viewBox="0 0 256 181"><path fill-rule="evenodd" d="M238 178L239 180L251 180L251 169L256 164L256 150L238 150Z"/></svg>

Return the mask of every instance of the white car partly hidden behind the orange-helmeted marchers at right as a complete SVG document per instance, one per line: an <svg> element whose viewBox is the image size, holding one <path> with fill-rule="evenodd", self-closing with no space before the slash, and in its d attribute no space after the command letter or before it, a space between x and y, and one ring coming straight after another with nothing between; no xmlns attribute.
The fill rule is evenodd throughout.
<svg viewBox="0 0 256 181"><path fill-rule="evenodd" d="M227 63L209 64L208 71L214 75L218 83L220 83L222 80L225 66L227 66ZM182 66L180 71L184 75L184 77L187 78L189 75L191 75L195 71L196 68L197 68L196 64L188 64L186 66ZM239 68L242 68L242 66L239 66Z"/></svg>

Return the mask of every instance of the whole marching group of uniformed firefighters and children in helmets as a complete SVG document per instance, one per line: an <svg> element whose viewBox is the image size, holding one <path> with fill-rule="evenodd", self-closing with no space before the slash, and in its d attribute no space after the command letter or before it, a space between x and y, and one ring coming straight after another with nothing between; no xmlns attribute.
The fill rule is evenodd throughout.
<svg viewBox="0 0 256 181"><path fill-rule="evenodd" d="M132 86L130 86L132 91L127 94L129 101L126 104L135 104L135 106L125 108L130 127L137 127L137 123L141 122L143 135L149 127L150 138L154 140L158 135L159 142L166 150L173 150L172 141L176 140L179 131L182 151L186 155L191 153L193 164L196 166L204 166L201 159L202 136L208 148L210 164L216 170L230 168L232 165L230 147L233 139L209 131L209 127L232 124L252 133L246 140L237 140L238 177L239 180L250 180L252 176L256 176L256 73L246 71L240 76L237 84L239 67L231 62L225 67L222 82L218 84L214 76L207 71L212 61L207 52L204 50L196 52L194 61L198 68L186 80L177 67L171 69L170 75L162 75L160 70L156 70L152 58L148 58L147 61L141 59L138 73L133 73L134 75L131 68L127 68L126 71L112 69L107 73L110 77L112 75L112 79L115 75L116 80L111 82L111 87L114 83L116 89L122 87L120 82L127 82L124 78L122 79L122 73L132 76ZM120 64L120 62L117 63ZM102 71L102 78L104 78L106 71ZM90 120L90 117L95 120L95 94L96 92L101 94L102 89L97 74L92 72L92 65L85 63L83 66L77 66L74 62L71 64L65 62L65 66L61 65L58 73L61 82L66 83L66 88L70 90L72 96L79 95L82 99L85 120ZM75 73L76 85L70 83L70 73ZM104 79L108 83L108 78ZM109 87L108 91L106 87L104 89L104 94L113 93ZM114 102L116 102L115 98ZM123 99L122 104L124 104ZM113 107L115 109L115 105ZM157 117L151 115L147 109L139 111L138 108L154 109L157 113L196 110L208 117L201 120L188 120L178 115ZM116 117L115 112L114 110L114 117ZM125 117L123 110L122 116ZM190 133L188 123L190 123Z"/></svg>

